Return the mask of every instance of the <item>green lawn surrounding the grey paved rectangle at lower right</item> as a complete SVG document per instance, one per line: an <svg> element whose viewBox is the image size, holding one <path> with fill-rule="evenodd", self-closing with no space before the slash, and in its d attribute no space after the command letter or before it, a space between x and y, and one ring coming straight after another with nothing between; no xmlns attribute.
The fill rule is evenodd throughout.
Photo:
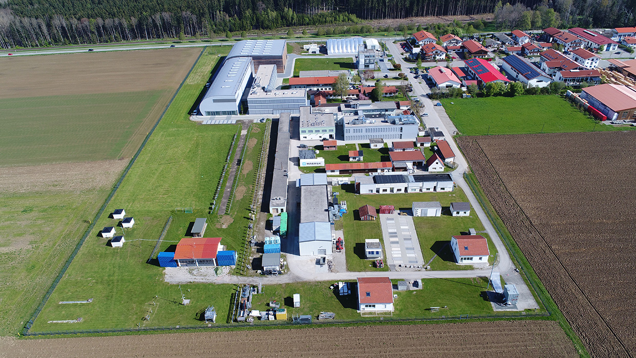
<svg viewBox="0 0 636 358"><path fill-rule="evenodd" d="M372 271L378 270L371 266L371 261L364 259L364 240L367 238L379 238L382 240L382 226L380 220L360 221L354 219L357 208L368 204L375 209L380 205L394 205L396 210L411 209L413 202L439 202L442 206L442 216L439 217L413 217L415 230L422 249L424 261L428 262L435 254L438 254L431 263L431 270L469 270L471 265L456 265L452 260L452 252L448 249L448 242L452 235L460 235L461 232L474 228L476 231L484 230L480 219L472 214L466 217L453 217L448 212L451 202L467 202L466 194L461 188L455 188L452 193L408 193L408 194L373 194L357 195L353 193L353 185L345 184L340 189L333 191L340 193L338 200L346 200L349 213L345 214L341 221L345 236L345 255L347 257L347 270ZM494 261L496 249L490 238L485 233L480 233L488 239L490 249L490 263ZM386 252L386 251L384 251Z"/></svg>

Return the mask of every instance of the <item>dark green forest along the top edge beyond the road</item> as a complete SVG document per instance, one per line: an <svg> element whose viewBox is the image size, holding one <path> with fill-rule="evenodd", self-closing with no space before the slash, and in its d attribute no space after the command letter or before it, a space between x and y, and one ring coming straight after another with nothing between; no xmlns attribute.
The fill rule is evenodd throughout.
<svg viewBox="0 0 636 358"><path fill-rule="evenodd" d="M331 24L345 32L364 20L481 13L495 13L497 29L619 27L635 25L635 11L636 0L0 0L0 47L210 38Z"/></svg>

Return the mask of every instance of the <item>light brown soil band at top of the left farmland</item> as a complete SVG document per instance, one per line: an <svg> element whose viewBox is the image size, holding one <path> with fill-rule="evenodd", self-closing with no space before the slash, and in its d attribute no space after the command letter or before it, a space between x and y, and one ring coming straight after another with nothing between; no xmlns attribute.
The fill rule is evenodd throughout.
<svg viewBox="0 0 636 358"><path fill-rule="evenodd" d="M201 48L166 48L6 57L0 60L0 98L164 88L174 92L199 53Z"/></svg>

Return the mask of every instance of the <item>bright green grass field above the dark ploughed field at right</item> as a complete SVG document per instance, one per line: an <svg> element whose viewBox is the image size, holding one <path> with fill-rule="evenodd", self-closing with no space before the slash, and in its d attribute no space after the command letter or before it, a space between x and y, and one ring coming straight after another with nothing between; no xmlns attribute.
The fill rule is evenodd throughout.
<svg viewBox="0 0 636 358"><path fill-rule="evenodd" d="M462 135L625 129L595 126L590 116L555 95L441 99L440 102Z"/></svg>

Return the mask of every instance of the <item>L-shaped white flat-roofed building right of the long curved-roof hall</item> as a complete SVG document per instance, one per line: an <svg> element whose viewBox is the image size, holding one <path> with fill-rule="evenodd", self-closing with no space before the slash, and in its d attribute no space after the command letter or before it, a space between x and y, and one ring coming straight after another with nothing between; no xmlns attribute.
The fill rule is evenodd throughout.
<svg viewBox="0 0 636 358"><path fill-rule="evenodd" d="M260 65L247 95L248 114L300 113L307 106L307 90L276 90L276 65Z"/></svg>

